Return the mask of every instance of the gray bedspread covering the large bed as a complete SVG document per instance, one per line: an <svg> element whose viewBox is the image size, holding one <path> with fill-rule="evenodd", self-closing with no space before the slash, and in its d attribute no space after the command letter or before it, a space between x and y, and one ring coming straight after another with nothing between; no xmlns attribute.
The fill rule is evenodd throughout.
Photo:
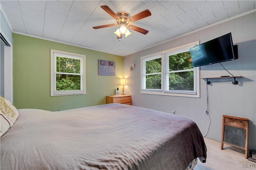
<svg viewBox="0 0 256 170"><path fill-rule="evenodd" d="M19 109L1 137L1 170L184 170L206 146L194 121L123 104Z"/></svg>

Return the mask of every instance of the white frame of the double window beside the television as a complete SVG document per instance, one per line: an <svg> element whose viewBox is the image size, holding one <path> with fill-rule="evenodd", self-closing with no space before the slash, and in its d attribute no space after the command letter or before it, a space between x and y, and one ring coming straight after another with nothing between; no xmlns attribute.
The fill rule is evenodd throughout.
<svg viewBox="0 0 256 170"><path fill-rule="evenodd" d="M200 98L200 67L192 68L194 70L194 91L177 91L177 90L168 90L168 56L176 53L182 53L185 51L189 51L191 47L195 45L199 45L199 41L194 43L189 43L186 45L182 45L179 47L175 47L172 49L168 49L165 51L161 51L159 53L155 53L152 55L147 55L141 57L140 61L140 73L141 73L141 94L154 94L154 95L164 95L164 96L182 96L182 97L193 97ZM146 61L162 57L162 72L161 72L161 89L146 89Z"/></svg>

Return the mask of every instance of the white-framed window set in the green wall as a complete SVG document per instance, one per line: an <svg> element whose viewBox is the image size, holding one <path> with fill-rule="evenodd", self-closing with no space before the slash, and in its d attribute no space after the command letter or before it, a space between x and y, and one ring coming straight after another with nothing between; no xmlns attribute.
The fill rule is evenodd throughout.
<svg viewBox="0 0 256 170"><path fill-rule="evenodd" d="M86 94L85 55L51 50L51 96Z"/></svg>

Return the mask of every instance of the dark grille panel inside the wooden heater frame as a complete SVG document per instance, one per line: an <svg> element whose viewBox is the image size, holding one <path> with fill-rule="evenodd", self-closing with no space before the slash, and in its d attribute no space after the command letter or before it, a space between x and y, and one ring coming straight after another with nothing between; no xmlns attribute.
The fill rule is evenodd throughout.
<svg viewBox="0 0 256 170"><path fill-rule="evenodd" d="M245 149L246 129L225 125L223 142Z"/></svg>

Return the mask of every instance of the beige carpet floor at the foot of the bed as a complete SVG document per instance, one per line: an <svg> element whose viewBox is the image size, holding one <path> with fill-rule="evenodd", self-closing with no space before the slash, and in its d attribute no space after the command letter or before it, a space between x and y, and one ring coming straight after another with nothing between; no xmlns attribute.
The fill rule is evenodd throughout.
<svg viewBox="0 0 256 170"><path fill-rule="evenodd" d="M207 147L206 163L196 164L194 170L256 170L256 163L245 158L245 150L204 138Z"/></svg>

